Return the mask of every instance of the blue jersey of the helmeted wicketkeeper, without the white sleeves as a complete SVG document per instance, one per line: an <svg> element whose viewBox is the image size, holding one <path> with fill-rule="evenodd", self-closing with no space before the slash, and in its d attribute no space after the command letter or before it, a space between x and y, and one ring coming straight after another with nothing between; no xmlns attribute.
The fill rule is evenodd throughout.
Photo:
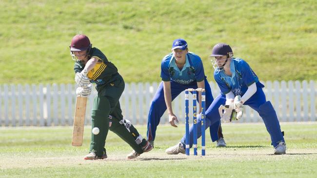
<svg viewBox="0 0 317 178"><path fill-rule="evenodd" d="M226 75L223 70L214 72L215 80L222 94L227 94L232 91L235 96L242 96L253 83L256 83L257 87L264 87L264 85L258 81L258 76L243 59L232 58L230 71L232 76Z"/></svg>

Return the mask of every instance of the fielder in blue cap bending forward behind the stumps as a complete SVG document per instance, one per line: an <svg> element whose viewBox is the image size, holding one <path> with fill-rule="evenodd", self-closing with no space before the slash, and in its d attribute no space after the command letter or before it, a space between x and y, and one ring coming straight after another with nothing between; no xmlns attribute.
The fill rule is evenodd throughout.
<svg viewBox="0 0 317 178"><path fill-rule="evenodd" d="M154 145L155 133L160 118L167 109L169 123L177 127L177 116L173 113L172 101L185 89L202 88L206 90L206 107L214 100L212 92L204 73L200 57L188 52L187 42L176 39L172 45L172 53L167 54L161 62L161 78L158 90L153 98L147 124L148 141ZM198 98L201 97L201 93ZM199 99L198 101L201 100ZM201 106L201 105L199 105ZM218 146L226 146L221 133L220 122L210 127L212 141ZM219 132L219 133L218 133Z"/></svg>

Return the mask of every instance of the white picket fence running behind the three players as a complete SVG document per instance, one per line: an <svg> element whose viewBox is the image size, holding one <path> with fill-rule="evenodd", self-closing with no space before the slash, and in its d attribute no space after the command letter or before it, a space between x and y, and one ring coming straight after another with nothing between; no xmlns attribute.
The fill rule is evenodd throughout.
<svg viewBox="0 0 317 178"><path fill-rule="evenodd" d="M281 122L316 121L315 81L262 82L267 100L271 101ZM147 124L151 100L159 83L126 83L120 98L125 119L133 124ZM210 82L213 96L219 93L218 86ZM76 85L0 85L0 126L53 126L73 125L76 102ZM88 99L85 124L91 124L91 106L97 91L93 89ZM173 111L184 123L184 92L173 101ZM190 103L191 106L191 103ZM192 109L190 109L192 113ZM166 113L161 118L167 123ZM262 122L258 113L244 107L238 123Z"/></svg>

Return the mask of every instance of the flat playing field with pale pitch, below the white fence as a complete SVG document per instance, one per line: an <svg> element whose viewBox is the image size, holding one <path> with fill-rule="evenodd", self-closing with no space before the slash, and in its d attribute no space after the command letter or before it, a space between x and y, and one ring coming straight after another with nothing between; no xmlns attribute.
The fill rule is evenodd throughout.
<svg viewBox="0 0 317 178"><path fill-rule="evenodd" d="M137 125L145 136L146 127ZM0 178L303 178L317 176L317 123L281 123L286 155L272 155L263 124L223 124L227 148L216 148L206 132L206 156L166 155L184 131L159 125L155 149L127 160L131 148L109 132L106 160L83 160L90 142L71 146L71 127L1 127ZM200 144L200 142L199 142ZM191 150L192 152L192 150ZM198 148L198 153L200 149Z"/></svg>

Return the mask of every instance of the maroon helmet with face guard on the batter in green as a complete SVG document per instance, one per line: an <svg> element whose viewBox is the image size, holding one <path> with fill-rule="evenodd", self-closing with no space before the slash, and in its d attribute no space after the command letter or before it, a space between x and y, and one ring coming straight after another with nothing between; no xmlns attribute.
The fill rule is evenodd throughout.
<svg viewBox="0 0 317 178"><path fill-rule="evenodd" d="M81 60L78 59L78 57L75 55L75 52L79 51L86 51L85 57L89 55L90 49L92 47L92 44L90 43L90 40L85 35L76 35L73 37L72 42L69 46L70 48L70 55L72 56L73 60L78 61L79 63L82 63Z"/></svg>

